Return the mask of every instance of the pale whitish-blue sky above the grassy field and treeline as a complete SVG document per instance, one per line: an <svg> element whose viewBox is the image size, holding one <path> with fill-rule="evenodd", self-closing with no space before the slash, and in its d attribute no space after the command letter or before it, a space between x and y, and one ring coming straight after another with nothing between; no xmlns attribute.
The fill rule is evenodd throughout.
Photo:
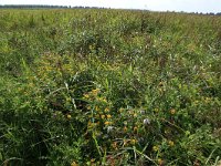
<svg viewBox="0 0 221 166"><path fill-rule="evenodd" d="M59 4L154 11L221 12L221 0L0 0L0 4Z"/></svg>

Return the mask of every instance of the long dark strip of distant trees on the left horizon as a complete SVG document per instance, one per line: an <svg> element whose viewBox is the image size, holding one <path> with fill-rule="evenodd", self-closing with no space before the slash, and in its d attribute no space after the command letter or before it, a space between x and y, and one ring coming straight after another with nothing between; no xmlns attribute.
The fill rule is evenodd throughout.
<svg viewBox="0 0 221 166"><path fill-rule="evenodd" d="M7 9L38 9L38 8L51 8L51 9L103 9L103 8L98 8L98 7L71 7L71 6L44 6L44 4L4 4L4 6L0 6L0 8L7 8Z"/></svg>

